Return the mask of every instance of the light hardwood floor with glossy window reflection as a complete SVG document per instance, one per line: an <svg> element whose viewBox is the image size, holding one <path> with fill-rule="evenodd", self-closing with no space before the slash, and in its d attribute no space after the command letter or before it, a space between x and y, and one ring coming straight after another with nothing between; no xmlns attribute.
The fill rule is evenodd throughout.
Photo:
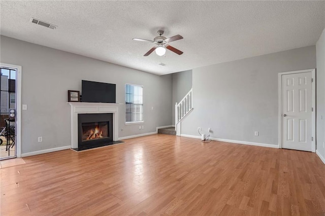
<svg viewBox="0 0 325 216"><path fill-rule="evenodd" d="M1 215L324 215L314 153L155 134L0 169Z"/></svg>

